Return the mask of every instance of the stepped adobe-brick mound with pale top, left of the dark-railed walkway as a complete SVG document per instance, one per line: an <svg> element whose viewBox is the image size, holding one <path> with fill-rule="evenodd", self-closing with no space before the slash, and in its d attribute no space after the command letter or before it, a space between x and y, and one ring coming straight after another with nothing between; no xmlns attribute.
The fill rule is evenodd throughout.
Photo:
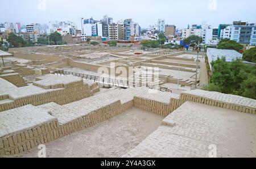
<svg viewBox="0 0 256 169"><path fill-rule="evenodd" d="M68 104L88 98L94 94L93 92L99 90L98 88L90 90L88 84L84 84L82 79L76 77L65 76L58 81L60 77L51 74L40 78L46 78L46 80L37 81L32 86L16 88L10 93L2 94L9 95L9 100L0 103L0 112L28 104L35 106L51 102L60 105Z"/></svg>

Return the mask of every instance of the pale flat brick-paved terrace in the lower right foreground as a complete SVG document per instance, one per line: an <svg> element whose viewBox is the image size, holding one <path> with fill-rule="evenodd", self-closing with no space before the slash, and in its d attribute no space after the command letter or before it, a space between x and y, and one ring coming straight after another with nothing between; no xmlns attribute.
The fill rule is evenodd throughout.
<svg viewBox="0 0 256 169"><path fill-rule="evenodd" d="M256 116L186 102L123 157L256 157Z"/></svg>

